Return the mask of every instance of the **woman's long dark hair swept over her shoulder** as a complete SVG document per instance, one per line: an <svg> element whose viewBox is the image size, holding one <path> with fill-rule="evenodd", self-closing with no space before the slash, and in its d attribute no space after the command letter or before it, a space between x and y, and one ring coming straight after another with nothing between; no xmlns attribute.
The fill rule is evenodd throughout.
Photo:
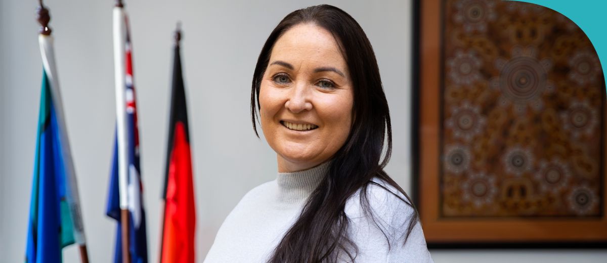
<svg viewBox="0 0 607 263"><path fill-rule="evenodd" d="M272 48L283 33L302 23L313 23L328 30L339 44L353 83L353 123L347 141L333 157L327 176L308 197L299 218L277 245L268 262L336 262L342 253L354 261L358 248L347 236L349 220L344 211L349 197L361 190L361 208L373 218L367 199L368 186L373 183L390 191L371 181L373 177L379 177L405 198L400 197L399 193L390 193L413 207L407 194L383 169L392 154L390 114L375 53L358 22L331 5L316 5L285 16L270 33L257 60L251 85L251 120L259 137L256 128L256 115L260 108L259 89ZM381 160L384 142L387 148ZM413 211L415 214L406 226L405 242L418 222L415 207ZM380 230L388 241L389 249L387 233L381 227Z"/></svg>

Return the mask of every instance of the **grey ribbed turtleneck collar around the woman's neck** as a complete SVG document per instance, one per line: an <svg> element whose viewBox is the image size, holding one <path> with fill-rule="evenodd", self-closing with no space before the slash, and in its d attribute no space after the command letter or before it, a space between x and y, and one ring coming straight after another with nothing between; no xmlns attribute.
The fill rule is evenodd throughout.
<svg viewBox="0 0 607 263"><path fill-rule="evenodd" d="M297 203L307 199L327 174L330 164L331 161L327 161L303 171L279 172L276 178L279 200Z"/></svg>

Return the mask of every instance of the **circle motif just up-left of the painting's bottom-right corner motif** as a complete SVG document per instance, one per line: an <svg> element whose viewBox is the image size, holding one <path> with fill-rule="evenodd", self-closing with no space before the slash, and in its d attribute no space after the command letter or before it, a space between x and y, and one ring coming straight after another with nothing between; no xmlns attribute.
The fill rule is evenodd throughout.
<svg viewBox="0 0 607 263"><path fill-rule="evenodd" d="M567 185L570 177L571 170L569 166L558 157L555 157L550 162L542 160L540 162L540 171L534 174L534 178L539 183L540 190L543 193L558 193L558 191Z"/></svg>

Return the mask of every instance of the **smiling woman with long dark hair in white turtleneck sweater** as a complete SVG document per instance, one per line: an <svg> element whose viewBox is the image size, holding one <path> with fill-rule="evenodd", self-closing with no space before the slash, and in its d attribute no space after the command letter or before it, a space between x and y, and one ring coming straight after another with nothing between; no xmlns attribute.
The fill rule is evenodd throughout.
<svg viewBox="0 0 607 263"><path fill-rule="evenodd" d="M257 111L279 174L243 197L205 262L432 262L415 208L382 169L388 105L350 15L317 5L279 23L253 75L256 134Z"/></svg>

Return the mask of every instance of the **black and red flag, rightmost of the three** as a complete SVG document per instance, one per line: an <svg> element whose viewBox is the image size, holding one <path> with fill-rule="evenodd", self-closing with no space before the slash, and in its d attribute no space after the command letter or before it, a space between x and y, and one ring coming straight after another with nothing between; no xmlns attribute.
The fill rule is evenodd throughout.
<svg viewBox="0 0 607 263"><path fill-rule="evenodd" d="M196 211L188 111L178 44L175 46L171 93L168 151L164 172L164 222L160 262L194 262Z"/></svg>

